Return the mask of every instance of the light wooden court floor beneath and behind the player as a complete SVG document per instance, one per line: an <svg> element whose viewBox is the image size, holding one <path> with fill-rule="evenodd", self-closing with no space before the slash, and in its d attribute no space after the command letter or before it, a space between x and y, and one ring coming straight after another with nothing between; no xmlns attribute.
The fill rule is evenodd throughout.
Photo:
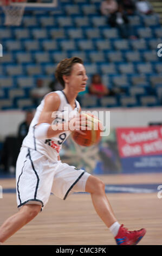
<svg viewBox="0 0 162 256"><path fill-rule="evenodd" d="M98 176L106 184L162 185L160 174ZM14 188L15 179L0 179L3 188ZM115 216L130 230L146 228L139 245L162 245L162 198L157 193L108 193ZM0 199L0 224L17 212L16 194ZM112 234L96 214L90 194L72 194L67 200L50 196L44 210L10 237L5 245L115 245Z"/></svg>

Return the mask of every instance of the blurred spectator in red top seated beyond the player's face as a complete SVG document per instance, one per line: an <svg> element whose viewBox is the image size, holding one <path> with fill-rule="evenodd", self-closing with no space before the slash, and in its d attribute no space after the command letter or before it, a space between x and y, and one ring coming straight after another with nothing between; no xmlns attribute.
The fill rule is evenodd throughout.
<svg viewBox="0 0 162 256"><path fill-rule="evenodd" d="M99 74L92 76L92 83L89 86L89 94L102 97L109 94L109 90L102 83L101 77Z"/></svg>

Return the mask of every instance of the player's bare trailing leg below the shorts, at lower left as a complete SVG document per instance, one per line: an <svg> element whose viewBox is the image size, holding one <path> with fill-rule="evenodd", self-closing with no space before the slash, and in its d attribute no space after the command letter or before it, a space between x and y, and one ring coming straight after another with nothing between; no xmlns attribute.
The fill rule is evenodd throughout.
<svg viewBox="0 0 162 256"><path fill-rule="evenodd" d="M0 242L4 242L25 224L33 220L41 210L41 205L28 204L9 217L0 227Z"/></svg>

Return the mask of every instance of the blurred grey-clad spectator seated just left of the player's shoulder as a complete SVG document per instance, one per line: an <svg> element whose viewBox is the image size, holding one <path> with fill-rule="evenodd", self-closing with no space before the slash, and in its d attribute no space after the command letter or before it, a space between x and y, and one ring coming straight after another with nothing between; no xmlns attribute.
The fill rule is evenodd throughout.
<svg viewBox="0 0 162 256"><path fill-rule="evenodd" d="M43 86L43 80L37 79L36 88L31 89L30 96L33 99L33 103L38 106L44 95L50 93L50 89L48 87Z"/></svg>

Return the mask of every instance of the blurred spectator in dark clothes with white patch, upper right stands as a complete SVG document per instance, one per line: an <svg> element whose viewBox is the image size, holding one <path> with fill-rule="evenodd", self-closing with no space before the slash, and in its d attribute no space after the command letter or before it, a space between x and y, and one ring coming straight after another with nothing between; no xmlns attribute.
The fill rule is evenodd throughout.
<svg viewBox="0 0 162 256"><path fill-rule="evenodd" d="M133 27L129 25L128 16L124 13L121 4L119 5L118 11L111 14L108 21L112 27L119 28L122 38L137 39L137 37L134 35L135 33Z"/></svg>

